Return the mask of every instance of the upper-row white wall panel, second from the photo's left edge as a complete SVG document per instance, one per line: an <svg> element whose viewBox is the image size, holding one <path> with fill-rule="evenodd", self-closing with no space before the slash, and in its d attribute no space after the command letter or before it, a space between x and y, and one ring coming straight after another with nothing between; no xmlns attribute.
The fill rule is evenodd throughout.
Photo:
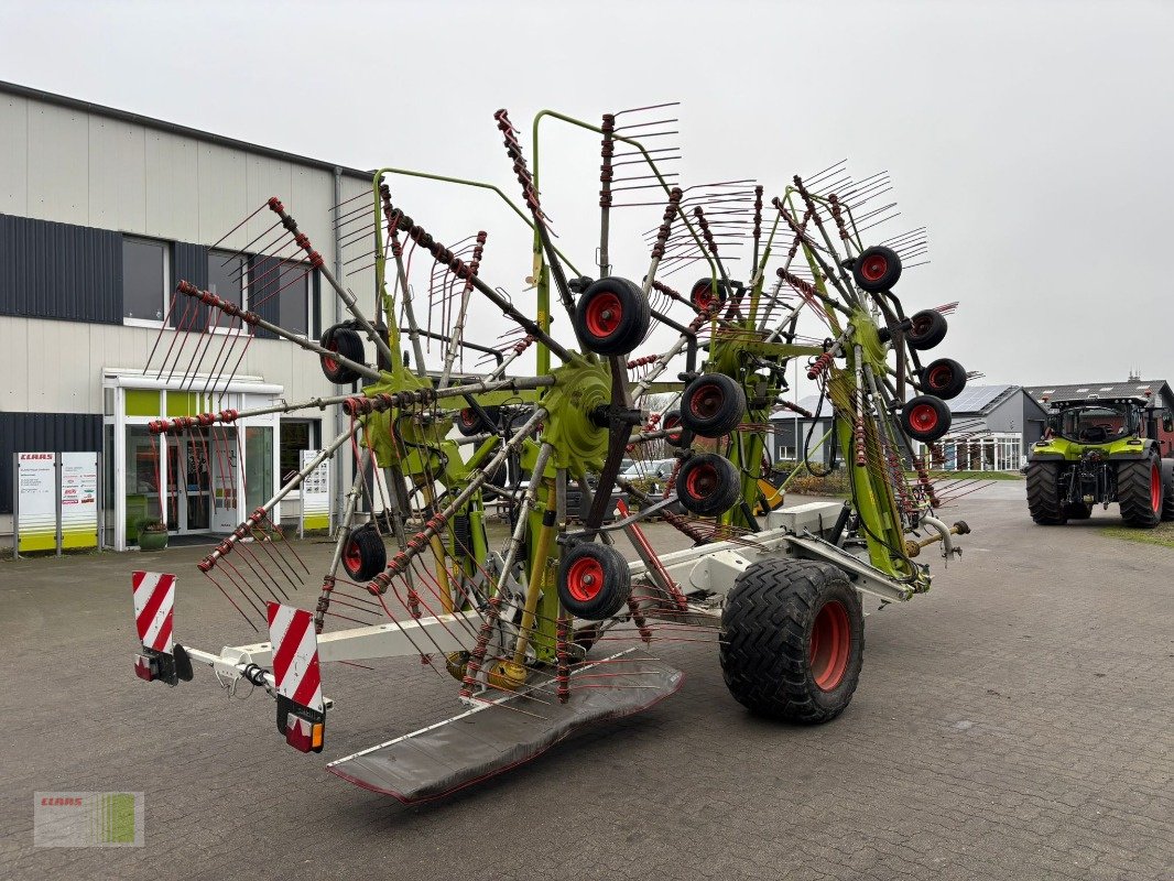
<svg viewBox="0 0 1174 881"><path fill-rule="evenodd" d="M88 202L87 114L29 103L27 216L85 224L89 218Z"/></svg>

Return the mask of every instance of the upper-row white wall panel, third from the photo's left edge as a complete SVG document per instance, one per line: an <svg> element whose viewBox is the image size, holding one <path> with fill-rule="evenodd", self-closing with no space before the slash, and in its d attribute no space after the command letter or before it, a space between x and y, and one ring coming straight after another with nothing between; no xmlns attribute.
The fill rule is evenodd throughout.
<svg viewBox="0 0 1174 881"><path fill-rule="evenodd" d="M89 115L89 226L147 235L147 132Z"/></svg>

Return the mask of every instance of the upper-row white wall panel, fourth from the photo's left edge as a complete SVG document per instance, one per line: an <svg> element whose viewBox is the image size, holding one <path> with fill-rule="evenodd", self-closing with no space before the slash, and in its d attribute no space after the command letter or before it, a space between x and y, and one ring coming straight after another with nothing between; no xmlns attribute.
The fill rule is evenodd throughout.
<svg viewBox="0 0 1174 881"><path fill-rule="evenodd" d="M147 132L147 235L198 241L196 153L188 137Z"/></svg>

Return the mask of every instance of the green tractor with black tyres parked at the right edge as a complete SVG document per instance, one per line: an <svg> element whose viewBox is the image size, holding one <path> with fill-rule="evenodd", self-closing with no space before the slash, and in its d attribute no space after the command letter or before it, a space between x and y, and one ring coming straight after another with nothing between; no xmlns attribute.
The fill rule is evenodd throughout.
<svg viewBox="0 0 1174 881"><path fill-rule="evenodd" d="M1174 520L1174 459L1162 458L1159 419L1174 430L1170 412L1142 397L1053 401L1027 462L1032 519L1062 525L1116 502L1129 526Z"/></svg>

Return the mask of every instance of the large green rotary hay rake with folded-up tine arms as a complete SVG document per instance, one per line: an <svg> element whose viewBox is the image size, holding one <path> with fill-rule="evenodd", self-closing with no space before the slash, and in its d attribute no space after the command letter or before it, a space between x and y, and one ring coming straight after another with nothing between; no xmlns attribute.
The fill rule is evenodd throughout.
<svg viewBox="0 0 1174 881"><path fill-rule="evenodd" d="M393 200L392 181L416 174L402 169L380 169L369 196L335 209L344 247L359 249L344 251L345 264L373 260L373 317L277 197L250 215L269 211L272 224L238 258L249 309L180 282L148 370L178 375L223 409L153 423L156 455L183 433L207 450L209 438L248 415L338 406L348 428L200 563L268 641L218 654L175 643L174 579L139 573L141 678L175 685L191 678L196 663L222 684L261 686L276 699L288 742L319 752L332 706L319 664L417 655L456 680L464 712L329 766L403 801L451 793L533 758L585 722L672 694L682 673L650 653L654 641L717 645L734 698L765 717L821 722L844 709L862 661L862 598L889 604L929 590L918 554L940 542L949 559L960 553L953 537L969 531L935 516L939 499L910 444L947 430L944 399L966 381L957 362L920 362L942 341L949 308L906 317L892 292L903 263L908 269L925 254L924 230L865 246L864 234L895 214L892 203L873 207L889 191L885 175L852 181L837 163L808 180L796 176L769 207L754 181L681 188L662 170L680 157L675 148L645 146L670 134L666 125L675 120L643 121L664 107L608 114L601 126L548 110L534 120L535 155L544 119L601 139L594 280L555 247L537 169L505 110L494 119L521 206L492 184L417 175L491 190L529 226L533 318L483 280L486 233L446 247ZM632 191L655 197L618 201ZM612 211L650 206L660 223L648 233L649 262L635 282L610 271ZM743 282L731 273L748 243ZM261 256L247 258L250 249ZM417 276L432 261L424 327L410 285L413 257ZM706 271L684 292L664 281L694 264ZM351 316L317 341L276 317L282 291L315 270ZM551 332L552 292L573 342ZM499 348L467 338L474 297L517 328ZM798 334L804 316L818 322L817 336ZM214 325L228 332L202 332ZM634 355L653 329L666 328L675 338L661 352ZM331 381L362 389L229 409L225 390L255 336L288 339L315 354ZM437 341L443 368L429 374L424 347ZM535 375L508 376L531 347ZM461 374L466 350L497 363L484 376ZM774 511L763 526L754 509L771 469L764 435L774 408L797 409L785 399L795 358L818 383L821 409L830 408L832 458L843 458L851 493L844 503ZM673 403L645 412L641 403L670 364L680 370ZM231 438L221 439L220 449L231 448ZM647 491L630 468L620 475L632 456L639 476L639 463L657 446L674 452L663 491ZM272 512L344 449L356 476L311 613L291 599L310 567L282 540ZM615 502L616 487L627 502ZM580 523L568 509L575 491ZM491 503L510 513L500 547L486 531ZM657 554L641 529L654 516L694 546ZM634 563L614 546L621 534Z"/></svg>

